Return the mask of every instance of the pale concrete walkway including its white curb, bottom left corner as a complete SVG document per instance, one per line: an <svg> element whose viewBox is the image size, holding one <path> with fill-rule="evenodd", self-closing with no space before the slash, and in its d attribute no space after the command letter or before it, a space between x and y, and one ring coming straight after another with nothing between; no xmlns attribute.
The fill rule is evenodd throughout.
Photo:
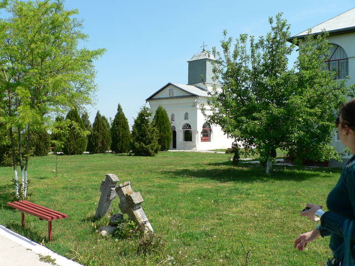
<svg viewBox="0 0 355 266"><path fill-rule="evenodd" d="M42 258L42 259L41 259ZM44 262L44 261L53 261ZM2 266L82 266L54 253L0 224L0 265Z"/></svg>

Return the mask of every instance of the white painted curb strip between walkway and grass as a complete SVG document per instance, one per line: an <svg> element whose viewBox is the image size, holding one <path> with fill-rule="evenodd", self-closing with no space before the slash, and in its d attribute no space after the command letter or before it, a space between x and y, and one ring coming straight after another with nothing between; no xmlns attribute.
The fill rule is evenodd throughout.
<svg viewBox="0 0 355 266"><path fill-rule="evenodd" d="M4 225L0 224L0 235L6 237L7 239L27 248L32 250L32 252L36 254L42 254L44 256L51 256L53 259L55 259L55 263L59 266L83 266L82 264L79 264L78 262L75 262L73 260L67 259L52 250L41 246L38 243L33 242L32 240L25 238L10 229L7 229Z"/></svg>

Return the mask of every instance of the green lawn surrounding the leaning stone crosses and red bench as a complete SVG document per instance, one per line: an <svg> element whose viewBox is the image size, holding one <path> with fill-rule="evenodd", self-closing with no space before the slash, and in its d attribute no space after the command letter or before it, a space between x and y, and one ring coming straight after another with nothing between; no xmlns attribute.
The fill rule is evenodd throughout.
<svg viewBox="0 0 355 266"><path fill-rule="evenodd" d="M31 201L64 212L47 222L7 207L13 191L11 167L0 167L0 223L84 265L323 265L331 257L328 239L308 250L293 249L298 234L315 223L299 215L307 202L325 206L340 170L239 164L229 154L159 153L156 157L101 154L31 158ZM108 219L93 221L105 173L131 181L144 198L143 208L157 235L159 250L137 253L137 238L102 238L96 230ZM119 199L113 207L118 208ZM245 249L244 249L245 248ZM170 264L169 264L170 263ZM240 263L240 264L239 264Z"/></svg>

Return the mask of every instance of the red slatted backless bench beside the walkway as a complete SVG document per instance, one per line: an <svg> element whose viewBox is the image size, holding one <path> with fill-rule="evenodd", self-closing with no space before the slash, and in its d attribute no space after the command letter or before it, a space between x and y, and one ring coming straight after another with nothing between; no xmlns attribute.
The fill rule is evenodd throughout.
<svg viewBox="0 0 355 266"><path fill-rule="evenodd" d="M28 213L40 218L40 220L48 221L48 238L52 241L52 220L68 218L68 215L48 209L41 205L34 204L29 201L8 202L8 206L21 211L21 224L25 226L25 214Z"/></svg>

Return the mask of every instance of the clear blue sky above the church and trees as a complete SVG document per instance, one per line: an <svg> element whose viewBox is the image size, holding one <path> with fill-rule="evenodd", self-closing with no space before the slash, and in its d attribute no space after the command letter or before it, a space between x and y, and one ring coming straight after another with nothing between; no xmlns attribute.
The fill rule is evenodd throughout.
<svg viewBox="0 0 355 266"><path fill-rule="evenodd" d="M114 118L121 103L130 125L155 91L168 82L187 83L186 61L201 51L203 42L207 50L219 48L224 29L234 38L264 35L268 17L282 12L295 35L355 7L352 0L100 2L65 1L84 19L83 32L90 37L83 45L107 49L95 62L98 93L96 105L88 107L90 121L97 110Z"/></svg>

